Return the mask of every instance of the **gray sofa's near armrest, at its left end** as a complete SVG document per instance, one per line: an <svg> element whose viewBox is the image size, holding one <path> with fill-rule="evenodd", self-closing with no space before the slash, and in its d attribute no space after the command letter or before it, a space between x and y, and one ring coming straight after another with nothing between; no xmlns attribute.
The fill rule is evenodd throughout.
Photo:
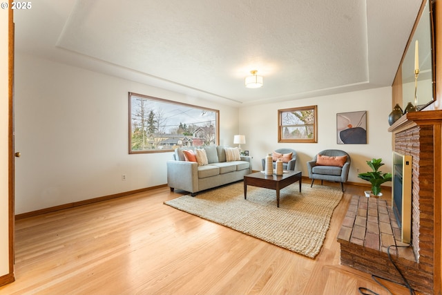
<svg viewBox="0 0 442 295"><path fill-rule="evenodd" d="M190 193L198 192L198 163L167 161L167 185Z"/></svg>

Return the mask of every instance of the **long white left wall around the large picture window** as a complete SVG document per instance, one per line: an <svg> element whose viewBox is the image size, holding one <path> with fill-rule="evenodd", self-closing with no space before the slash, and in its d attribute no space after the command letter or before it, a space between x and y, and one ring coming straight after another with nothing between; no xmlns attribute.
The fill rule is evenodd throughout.
<svg viewBox="0 0 442 295"><path fill-rule="evenodd" d="M128 154L129 91L220 110L220 144L233 145L238 132L238 108L19 53L16 60L17 214L166 184L171 153Z"/></svg>

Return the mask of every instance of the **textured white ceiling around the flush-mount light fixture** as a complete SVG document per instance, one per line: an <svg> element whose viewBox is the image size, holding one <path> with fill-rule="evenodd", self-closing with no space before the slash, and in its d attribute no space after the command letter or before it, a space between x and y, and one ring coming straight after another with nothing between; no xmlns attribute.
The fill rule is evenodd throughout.
<svg viewBox="0 0 442 295"><path fill-rule="evenodd" d="M227 104L390 86L421 0L40 0L16 50ZM244 87L250 70L264 86ZM128 89L131 91L131 89Z"/></svg>

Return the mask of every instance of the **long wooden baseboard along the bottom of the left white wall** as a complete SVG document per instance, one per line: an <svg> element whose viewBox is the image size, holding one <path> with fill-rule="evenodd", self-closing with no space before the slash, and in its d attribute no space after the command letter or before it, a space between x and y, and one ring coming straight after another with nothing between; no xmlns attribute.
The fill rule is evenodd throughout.
<svg viewBox="0 0 442 295"><path fill-rule="evenodd" d="M93 204L96 202L102 202L102 201L111 200L111 199L115 199L115 198L122 198L122 197L126 197L126 196L131 196L134 193L142 193L144 191L152 191L154 189L160 189L162 187L167 187L167 184L160 184L155 187L146 187L144 189L135 189L133 191L125 191L124 193L115 193L113 195L102 196L102 197L88 199L88 200L82 200L79 202L71 202L71 203L67 203L67 204L61 204L59 206L54 206L54 207L39 209L36 211L21 213L21 214L17 214L15 216L15 220L38 216L41 214L51 213L51 212L55 212L55 211L59 211L59 210L63 210L63 209L70 209L70 208L74 208L74 207L79 207L79 206L83 206L86 204Z"/></svg>

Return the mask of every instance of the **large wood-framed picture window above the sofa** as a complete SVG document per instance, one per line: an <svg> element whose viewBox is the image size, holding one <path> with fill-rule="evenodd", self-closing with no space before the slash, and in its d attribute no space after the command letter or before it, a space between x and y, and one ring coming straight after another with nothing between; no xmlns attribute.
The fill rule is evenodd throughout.
<svg viewBox="0 0 442 295"><path fill-rule="evenodd" d="M129 93L129 153L218 144L219 111Z"/></svg>

